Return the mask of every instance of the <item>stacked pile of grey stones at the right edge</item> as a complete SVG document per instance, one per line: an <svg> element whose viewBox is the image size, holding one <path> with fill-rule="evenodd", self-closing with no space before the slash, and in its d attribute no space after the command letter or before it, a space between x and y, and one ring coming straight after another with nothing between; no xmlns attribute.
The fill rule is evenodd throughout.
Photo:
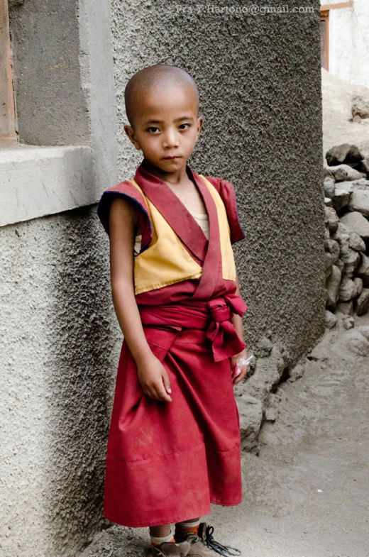
<svg viewBox="0 0 369 557"><path fill-rule="evenodd" d="M353 143L326 153L326 326L346 329L369 309L369 158Z"/></svg>

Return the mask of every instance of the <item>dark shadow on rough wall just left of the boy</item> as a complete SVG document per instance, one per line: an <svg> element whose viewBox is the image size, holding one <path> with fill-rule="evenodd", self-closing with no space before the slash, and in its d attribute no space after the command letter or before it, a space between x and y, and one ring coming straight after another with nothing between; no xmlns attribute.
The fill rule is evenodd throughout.
<svg viewBox="0 0 369 557"><path fill-rule="evenodd" d="M104 524L102 497L111 396L121 347L109 283L109 239L96 207L67 211L53 235L45 497L53 555L70 556Z"/></svg>

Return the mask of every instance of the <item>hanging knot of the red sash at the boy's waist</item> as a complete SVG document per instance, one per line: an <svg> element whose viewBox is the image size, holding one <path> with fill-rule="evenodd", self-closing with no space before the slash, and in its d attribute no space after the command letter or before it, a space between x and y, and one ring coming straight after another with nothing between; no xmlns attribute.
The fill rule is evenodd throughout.
<svg viewBox="0 0 369 557"><path fill-rule="evenodd" d="M207 305L212 321L206 331L206 337L211 340L214 361L219 362L246 348L246 344L238 336L230 319L231 314L243 316L247 306L236 294L212 298Z"/></svg>

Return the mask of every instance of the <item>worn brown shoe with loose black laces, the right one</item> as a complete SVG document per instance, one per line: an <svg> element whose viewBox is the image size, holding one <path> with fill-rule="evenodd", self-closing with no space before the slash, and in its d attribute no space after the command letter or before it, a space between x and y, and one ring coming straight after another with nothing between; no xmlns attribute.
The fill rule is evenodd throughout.
<svg viewBox="0 0 369 557"><path fill-rule="evenodd" d="M219 541L213 538L214 526L208 526L206 522L201 522L199 525L199 530L196 534L188 534L185 536L185 541L190 544L189 552L187 556L192 557L214 557L216 553L224 557L233 557L241 555L241 551L231 546L224 546L219 544ZM175 533L175 541L180 541L180 536L183 536L182 532L177 531Z"/></svg>

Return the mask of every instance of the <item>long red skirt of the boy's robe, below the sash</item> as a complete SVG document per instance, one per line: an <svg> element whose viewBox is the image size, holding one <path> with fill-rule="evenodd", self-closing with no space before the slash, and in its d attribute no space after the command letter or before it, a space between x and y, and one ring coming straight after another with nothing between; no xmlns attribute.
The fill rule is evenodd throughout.
<svg viewBox="0 0 369 557"><path fill-rule="evenodd" d="M242 500L240 421L231 358L214 362L205 331L145 328L170 377L172 402L151 399L123 341L106 455L104 516L171 524Z"/></svg>

